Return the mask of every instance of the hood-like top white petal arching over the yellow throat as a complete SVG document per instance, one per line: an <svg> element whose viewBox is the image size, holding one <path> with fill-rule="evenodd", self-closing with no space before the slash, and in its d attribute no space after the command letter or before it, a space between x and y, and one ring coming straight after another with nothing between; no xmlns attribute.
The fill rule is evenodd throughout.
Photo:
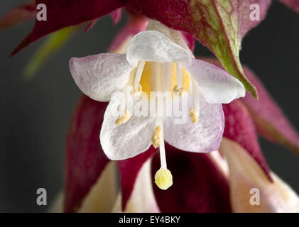
<svg viewBox="0 0 299 227"><path fill-rule="evenodd" d="M134 36L126 48L126 60L137 66L140 60L148 62L191 62L187 50L173 43L158 31L142 31Z"/></svg>

